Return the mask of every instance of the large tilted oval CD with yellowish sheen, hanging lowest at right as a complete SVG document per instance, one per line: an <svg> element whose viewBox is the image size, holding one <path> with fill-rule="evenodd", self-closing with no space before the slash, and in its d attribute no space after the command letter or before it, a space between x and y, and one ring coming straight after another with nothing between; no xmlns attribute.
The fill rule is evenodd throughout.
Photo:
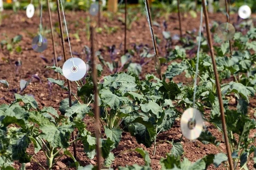
<svg viewBox="0 0 256 170"><path fill-rule="evenodd" d="M192 121L193 117L195 118L194 121ZM202 115L197 109L188 108L180 119L181 133L184 137L195 140L202 132L203 122Z"/></svg>

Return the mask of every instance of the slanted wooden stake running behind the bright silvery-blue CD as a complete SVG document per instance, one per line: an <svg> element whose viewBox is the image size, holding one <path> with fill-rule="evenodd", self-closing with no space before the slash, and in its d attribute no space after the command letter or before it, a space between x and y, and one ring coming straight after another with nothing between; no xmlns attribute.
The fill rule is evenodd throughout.
<svg viewBox="0 0 256 170"><path fill-rule="evenodd" d="M65 44L64 44L64 36L63 36L63 28L62 28L62 21L61 21L61 15L60 15L60 2L59 0L56 0L57 2L57 10L58 10L58 18L59 18L59 25L60 25L60 38L61 38L61 44L62 44L62 51L63 51L63 57L64 57L64 61L67 61L67 57L66 57L66 51L65 51ZM71 85L70 85L70 81L68 81L68 103L69 103L69 107L72 106L72 100L71 100ZM75 132L72 132L72 140L75 140ZM76 144L75 142L73 142L73 151L74 151L74 157L76 159Z"/></svg>

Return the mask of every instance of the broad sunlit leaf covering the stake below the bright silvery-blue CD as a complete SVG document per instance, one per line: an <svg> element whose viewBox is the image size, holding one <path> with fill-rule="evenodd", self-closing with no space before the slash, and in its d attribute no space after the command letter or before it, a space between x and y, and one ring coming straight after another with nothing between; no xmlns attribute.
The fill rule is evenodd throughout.
<svg viewBox="0 0 256 170"><path fill-rule="evenodd" d="M90 112L90 108L86 104L79 104L76 103L71 107L68 107L66 110L65 116L67 117L73 117L73 114L76 114L75 116L79 119L83 119L86 115L86 113Z"/></svg>

